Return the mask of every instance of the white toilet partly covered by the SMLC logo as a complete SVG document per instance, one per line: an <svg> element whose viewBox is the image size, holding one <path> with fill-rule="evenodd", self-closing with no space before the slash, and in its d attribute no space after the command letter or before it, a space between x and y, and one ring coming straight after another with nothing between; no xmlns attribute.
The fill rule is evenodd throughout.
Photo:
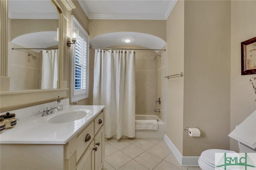
<svg viewBox="0 0 256 170"><path fill-rule="evenodd" d="M256 152L256 111L254 111L248 118L246 118L240 125L228 135L235 140L238 140L240 153L254 153ZM243 143L246 143L243 144ZM248 145L248 146L247 146ZM198 159L198 165L202 170L224 170L224 168L215 167L215 153L236 153L232 150L223 149L208 149L201 153Z"/></svg>

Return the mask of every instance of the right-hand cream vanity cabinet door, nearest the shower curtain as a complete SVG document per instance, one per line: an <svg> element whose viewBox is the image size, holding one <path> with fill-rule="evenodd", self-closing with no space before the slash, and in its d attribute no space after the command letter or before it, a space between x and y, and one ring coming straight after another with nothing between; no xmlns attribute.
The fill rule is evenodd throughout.
<svg viewBox="0 0 256 170"><path fill-rule="evenodd" d="M96 134L94 142L95 147L97 147L97 151L95 152L95 170L101 170L105 159L104 126Z"/></svg>

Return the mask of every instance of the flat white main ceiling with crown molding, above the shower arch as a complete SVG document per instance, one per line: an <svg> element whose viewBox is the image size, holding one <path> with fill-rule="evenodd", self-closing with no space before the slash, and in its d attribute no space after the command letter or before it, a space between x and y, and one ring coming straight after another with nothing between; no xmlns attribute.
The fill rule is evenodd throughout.
<svg viewBox="0 0 256 170"><path fill-rule="evenodd" d="M177 0L78 0L89 19L167 20Z"/></svg>

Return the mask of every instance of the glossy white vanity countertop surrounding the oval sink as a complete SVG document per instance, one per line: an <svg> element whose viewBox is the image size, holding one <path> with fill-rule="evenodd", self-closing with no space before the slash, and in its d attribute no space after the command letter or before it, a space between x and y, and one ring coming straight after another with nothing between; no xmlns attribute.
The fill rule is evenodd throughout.
<svg viewBox="0 0 256 170"><path fill-rule="evenodd" d="M17 121L14 128L6 129L0 134L0 144L66 144L77 132L82 130L94 118L96 118L104 106L66 106L63 111L75 109L90 109L92 116L67 123L47 123L52 115L42 117L40 115L23 121Z"/></svg>

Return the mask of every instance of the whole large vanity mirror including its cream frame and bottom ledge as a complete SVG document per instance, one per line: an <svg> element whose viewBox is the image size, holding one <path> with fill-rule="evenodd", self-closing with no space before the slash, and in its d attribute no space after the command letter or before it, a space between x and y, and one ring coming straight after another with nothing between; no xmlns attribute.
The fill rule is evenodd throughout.
<svg viewBox="0 0 256 170"><path fill-rule="evenodd" d="M0 0L0 4L1 112L66 97L63 56L67 18L75 8L72 0Z"/></svg>

